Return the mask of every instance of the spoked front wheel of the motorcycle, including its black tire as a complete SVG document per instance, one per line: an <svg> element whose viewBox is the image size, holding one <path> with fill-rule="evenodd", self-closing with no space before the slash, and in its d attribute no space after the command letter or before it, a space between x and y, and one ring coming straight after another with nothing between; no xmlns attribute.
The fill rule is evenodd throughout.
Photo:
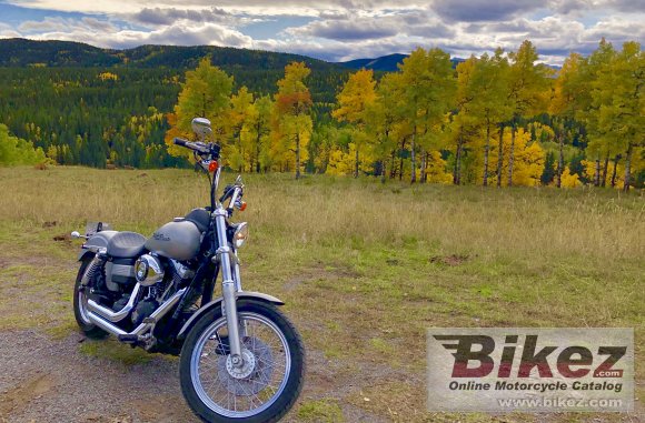
<svg viewBox="0 0 645 423"><path fill-rule="evenodd" d="M241 367L231 363L226 316L217 308L188 333L179 364L181 391L208 423L279 421L302 389L305 348L275 306L239 300Z"/></svg>

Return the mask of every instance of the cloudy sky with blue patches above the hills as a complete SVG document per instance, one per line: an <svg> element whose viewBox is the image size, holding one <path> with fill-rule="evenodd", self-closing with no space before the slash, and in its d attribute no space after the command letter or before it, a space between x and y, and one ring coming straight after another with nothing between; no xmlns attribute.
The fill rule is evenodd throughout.
<svg viewBox="0 0 645 423"><path fill-rule="evenodd" d="M0 0L0 38L126 49L212 44L328 61L438 47L467 58L529 39L540 60L645 41L645 0Z"/></svg>

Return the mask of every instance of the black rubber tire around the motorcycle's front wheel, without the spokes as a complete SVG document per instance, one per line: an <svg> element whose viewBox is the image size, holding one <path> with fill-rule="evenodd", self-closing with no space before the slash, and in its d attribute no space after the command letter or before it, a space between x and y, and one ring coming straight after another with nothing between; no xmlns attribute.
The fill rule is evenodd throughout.
<svg viewBox="0 0 645 423"><path fill-rule="evenodd" d="M272 423L278 422L289 410L294 406L302 390L305 381L305 346L300 335L294 328L294 324L274 305L252 300L239 300L237 303L238 315L259 315L269 320L281 332L288 345L290 369L286 377L284 389L277 393L277 397L271 397L267 402L271 402L268 407L259 411L257 414L245 416L227 416L209 407L199 396L194 381L195 372L192 369L196 348L199 348L199 341L205 331L209 331L214 324L221 321L221 308L216 308L202 315L195 326L188 333L186 342L181 349L181 356L179 362L179 380L181 383L181 392L188 402L188 405L195 414L197 414L204 422L207 423ZM200 353L205 350L198 350ZM217 369L215 370L217 371ZM199 382L201 383L201 382ZM252 413L251 411L249 411Z"/></svg>

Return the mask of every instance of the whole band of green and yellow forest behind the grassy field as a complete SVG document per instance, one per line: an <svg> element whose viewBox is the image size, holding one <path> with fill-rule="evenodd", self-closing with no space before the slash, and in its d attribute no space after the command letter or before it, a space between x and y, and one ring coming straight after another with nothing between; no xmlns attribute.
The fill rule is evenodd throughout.
<svg viewBox="0 0 645 423"><path fill-rule="evenodd" d="M530 41L458 64L440 49L418 48L397 72L349 73L297 58L284 71L218 60L0 68L0 123L8 127L0 127L0 163L21 157L9 147L31 145L60 164L187 167L171 141L192 137L190 120L201 115L222 144L221 164L242 172L644 184L645 61L636 42L618 49L602 40L560 69L540 63Z"/></svg>

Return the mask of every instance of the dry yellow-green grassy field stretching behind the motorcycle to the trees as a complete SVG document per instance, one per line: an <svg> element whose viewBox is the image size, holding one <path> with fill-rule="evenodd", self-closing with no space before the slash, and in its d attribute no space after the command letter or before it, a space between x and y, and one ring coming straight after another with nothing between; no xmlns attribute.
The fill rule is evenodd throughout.
<svg viewBox="0 0 645 423"><path fill-rule="evenodd" d="M351 409L401 422L639 419L428 414L425 329L635 328L642 403L642 193L290 175L248 175L245 182L249 207L240 219L251 229L240 252L245 288L287 302L312 362L296 421L351 421ZM0 295L43 298L36 310L0 301L0 330L39 326L66 336L75 330L70 289L78 244L54 238L99 219L149 234L205 205L207 182L179 170L0 169ZM116 344L81 348L145 360Z"/></svg>

